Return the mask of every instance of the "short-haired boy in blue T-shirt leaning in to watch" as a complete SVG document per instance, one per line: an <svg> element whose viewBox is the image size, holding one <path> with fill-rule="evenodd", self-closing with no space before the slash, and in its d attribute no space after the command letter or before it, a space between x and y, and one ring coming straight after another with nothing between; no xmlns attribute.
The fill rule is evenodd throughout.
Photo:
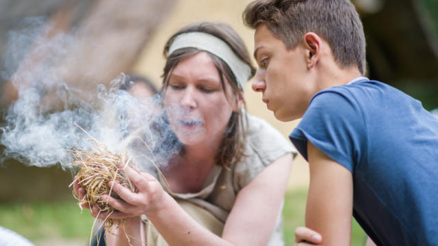
<svg viewBox="0 0 438 246"><path fill-rule="evenodd" d="M302 118L289 138L309 161L306 226L320 243L350 245L354 215L377 245L437 245L438 120L363 77L352 3L253 1L244 22L255 29L253 90L277 119Z"/></svg>

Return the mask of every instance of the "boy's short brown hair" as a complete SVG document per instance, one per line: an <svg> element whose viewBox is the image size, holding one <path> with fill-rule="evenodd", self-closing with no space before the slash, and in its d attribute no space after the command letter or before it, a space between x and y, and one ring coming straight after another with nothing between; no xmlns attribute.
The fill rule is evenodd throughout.
<svg viewBox="0 0 438 246"><path fill-rule="evenodd" d="M348 0L257 0L246 6L243 19L253 29L266 24L287 49L314 32L329 42L339 66L357 66L365 74L365 34Z"/></svg>

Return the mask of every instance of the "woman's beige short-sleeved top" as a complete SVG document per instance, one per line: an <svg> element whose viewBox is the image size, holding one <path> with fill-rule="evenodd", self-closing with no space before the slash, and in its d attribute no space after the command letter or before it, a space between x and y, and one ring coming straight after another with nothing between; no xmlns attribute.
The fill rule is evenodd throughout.
<svg viewBox="0 0 438 246"><path fill-rule="evenodd" d="M173 193L159 177L164 190L177 201L185 200L209 211L216 219L225 223L233 208L237 193L257 174L279 157L296 154L292 144L265 120L248 115L246 157L232 163L229 169L216 165L198 193ZM221 236L221 235L218 235ZM281 213L268 245L284 245Z"/></svg>

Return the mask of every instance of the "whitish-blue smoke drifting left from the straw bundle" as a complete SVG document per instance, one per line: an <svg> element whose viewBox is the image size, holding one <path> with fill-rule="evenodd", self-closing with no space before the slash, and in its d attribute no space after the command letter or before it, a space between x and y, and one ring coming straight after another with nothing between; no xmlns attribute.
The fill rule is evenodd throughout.
<svg viewBox="0 0 438 246"><path fill-rule="evenodd" d="M119 90L122 83L131 83L125 74L109 87L95 85L91 91L67 83L65 70L74 68L59 64L71 55L67 51L77 44L77 36L57 33L47 38L44 23L44 18L28 18L8 37L2 76L16 87L18 99L0 128L2 162L14 158L25 165L59 164L66 169L72 161L70 150L89 149L87 141L79 140L90 136L113 152L129 152L143 170L151 168L151 156L163 165L179 151L162 98L135 98Z"/></svg>

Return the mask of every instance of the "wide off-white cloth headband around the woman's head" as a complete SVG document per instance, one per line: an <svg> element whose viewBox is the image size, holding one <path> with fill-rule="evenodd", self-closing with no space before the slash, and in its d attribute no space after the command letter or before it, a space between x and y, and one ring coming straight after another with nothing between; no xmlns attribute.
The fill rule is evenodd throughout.
<svg viewBox="0 0 438 246"><path fill-rule="evenodd" d="M169 47L169 55L183 48L193 48L207 51L215 55L230 68L237 80L237 85L244 90L245 84L251 76L251 68L240 57L237 57L231 47L216 36L203 32L189 32L179 34Z"/></svg>

